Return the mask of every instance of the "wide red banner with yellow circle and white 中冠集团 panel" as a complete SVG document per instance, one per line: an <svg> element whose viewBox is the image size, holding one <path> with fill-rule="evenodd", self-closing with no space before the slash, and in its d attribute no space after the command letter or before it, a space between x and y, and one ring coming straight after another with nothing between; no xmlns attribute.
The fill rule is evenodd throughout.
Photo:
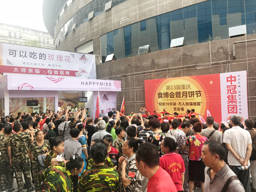
<svg viewBox="0 0 256 192"><path fill-rule="evenodd" d="M248 118L246 71L187 76L168 79L145 80L146 109L153 112L185 113L195 109L215 118L227 121L238 114L243 121ZM196 116L197 117L197 116ZM203 119L200 119L204 122Z"/></svg>

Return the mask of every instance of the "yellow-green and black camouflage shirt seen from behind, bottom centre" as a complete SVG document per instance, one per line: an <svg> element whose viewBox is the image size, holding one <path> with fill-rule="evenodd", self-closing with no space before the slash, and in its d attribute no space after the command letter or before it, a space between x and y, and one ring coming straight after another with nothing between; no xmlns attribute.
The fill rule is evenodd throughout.
<svg viewBox="0 0 256 192"><path fill-rule="evenodd" d="M93 168L90 168L82 173L78 185L78 191L112 192L116 191L117 187L118 173L114 168L108 167L107 165L94 165Z"/></svg>

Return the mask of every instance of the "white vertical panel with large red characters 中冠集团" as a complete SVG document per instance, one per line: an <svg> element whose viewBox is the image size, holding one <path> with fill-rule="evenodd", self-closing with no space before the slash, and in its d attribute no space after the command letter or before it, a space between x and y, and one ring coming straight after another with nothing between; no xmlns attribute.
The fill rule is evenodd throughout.
<svg viewBox="0 0 256 192"><path fill-rule="evenodd" d="M222 121L234 114L248 119L246 71L221 73L220 82Z"/></svg>

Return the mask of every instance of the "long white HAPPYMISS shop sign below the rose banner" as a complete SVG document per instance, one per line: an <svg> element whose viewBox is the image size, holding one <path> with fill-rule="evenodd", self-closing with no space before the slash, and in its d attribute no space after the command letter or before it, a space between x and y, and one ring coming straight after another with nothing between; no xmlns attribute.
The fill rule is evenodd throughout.
<svg viewBox="0 0 256 192"><path fill-rule="evenodd" d="M121 91L121 81L7 75L7 90L117 92Z"/></svg>

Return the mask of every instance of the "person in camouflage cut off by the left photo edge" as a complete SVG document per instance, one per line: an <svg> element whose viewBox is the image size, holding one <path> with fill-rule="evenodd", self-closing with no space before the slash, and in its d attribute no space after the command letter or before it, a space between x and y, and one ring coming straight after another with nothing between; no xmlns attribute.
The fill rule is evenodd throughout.
<svg viewBox="0 0 256 192"><path fill-rule="evenodd" d="M5 191L6 189L12 189L14 173L14 169L10 165L10 160L7 153L8 139L9 136L12 134L12 126L6 126L4 130L5 135L0 135L0 184L2 191Z"/></svg>

